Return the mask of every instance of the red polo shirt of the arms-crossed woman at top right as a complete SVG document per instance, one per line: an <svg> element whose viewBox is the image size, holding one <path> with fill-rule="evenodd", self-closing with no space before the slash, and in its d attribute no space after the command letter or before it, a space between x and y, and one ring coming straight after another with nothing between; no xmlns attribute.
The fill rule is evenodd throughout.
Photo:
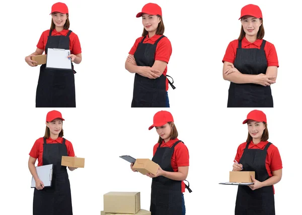
<svg viewBox="0 0 302 215"><path fill-rule="evenodd" d="M254 43L250 43L245 37L242 39L243 49L260 49L263 39L256 40ZM226 48L222 62L234 63L237 53L239 40L233 40L228 48ZM264 52L267 60L267 66L277 66L279 67L277 52L275 46L270 42L266 41L264 46Z"/></svg>

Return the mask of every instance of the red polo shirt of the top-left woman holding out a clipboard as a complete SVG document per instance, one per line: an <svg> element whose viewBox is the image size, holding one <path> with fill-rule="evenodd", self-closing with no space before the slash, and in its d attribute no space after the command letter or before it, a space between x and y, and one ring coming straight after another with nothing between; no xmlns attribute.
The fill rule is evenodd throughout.
<svg viewBox="0 0 302 215"><path fill-rule="evenodd" d="M49 31L50 30L47 30L42 33L40 40L37 44L38 49L42 49L45 51L45 46L49 36ZM57 32L55 29L53 29L51 32L51 36L61 36L61 35L66 36L68 31L69 30L64 29L60 32ZM70 53L74 55L82 53L81 44L78 35L74 34L73 32L71 32L69 35L69 49L70 49Z"/></svg>

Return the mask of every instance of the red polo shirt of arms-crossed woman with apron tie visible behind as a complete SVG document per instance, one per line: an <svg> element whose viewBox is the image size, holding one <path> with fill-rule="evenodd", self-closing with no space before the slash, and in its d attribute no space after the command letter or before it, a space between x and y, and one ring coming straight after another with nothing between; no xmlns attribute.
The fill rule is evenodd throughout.
<svg viewBox="0 0 302 215"><path fill-rule="evenodd" d="M150 44L155 44L155 42L163 35L154 35L153 37L149 38L149 36L147 35L146 38L144 39L143 43L150 43ZM132 46L129 54L134 55L138 44L141 42L143 37L139 37L135 40L134 45ZM170 56L172 54L172 46L171 46L171 42L167 37L162 38L157 47L156 47L156 51L155 51L155 60L161 60L161 61L165 61L166 63L169 63L170 60ZM164 75L167 74L167 67L165 68ZM169 82L168 79L166 79L166 91L168 91L169 88Z"/></svg>

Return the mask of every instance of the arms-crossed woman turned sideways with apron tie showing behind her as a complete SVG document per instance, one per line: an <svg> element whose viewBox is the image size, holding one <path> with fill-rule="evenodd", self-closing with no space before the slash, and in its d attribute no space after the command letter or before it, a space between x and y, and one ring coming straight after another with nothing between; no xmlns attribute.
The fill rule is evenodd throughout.
<svg viewBox="0 0 302 215"><path fill-rule="evenodd" d="M136 39L125 63L135 73L131 107L170 107L167 64L172 46L165 37L162 9L157 4L146 4L136 17L142 17L142 37ZM170 76L169 76L170 77Z"/></svg>

